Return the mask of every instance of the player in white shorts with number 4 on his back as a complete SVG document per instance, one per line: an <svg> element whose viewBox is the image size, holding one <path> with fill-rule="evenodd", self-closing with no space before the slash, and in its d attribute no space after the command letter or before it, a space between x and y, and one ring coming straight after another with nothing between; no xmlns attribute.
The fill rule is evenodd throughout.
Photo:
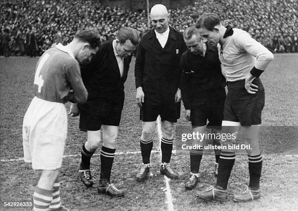
<svg viewBox="0 0 298 211"><path fill-rule="evenodd" d="M61 43L42 54L34 78L35 97L23 121L25 162L41 170L34 189L34 210L63 210L59 196L59 169L67 135L68 101L85 103L87 90L79 63L89 62L98 50L94 30L79 31L67 46Z"/></svg>

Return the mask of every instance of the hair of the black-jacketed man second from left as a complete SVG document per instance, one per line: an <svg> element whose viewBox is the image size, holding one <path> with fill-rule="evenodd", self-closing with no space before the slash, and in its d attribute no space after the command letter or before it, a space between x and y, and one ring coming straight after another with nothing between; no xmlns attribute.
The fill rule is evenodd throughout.
<svg viewBox="0 0 298 211"><path fill-rule="evenodd" d="M132 45L137 45L140 42L141 36L139 31L131 27L123 27L118 30L116 38L121 44L125 43L126 40L130 40Z"/></svg>

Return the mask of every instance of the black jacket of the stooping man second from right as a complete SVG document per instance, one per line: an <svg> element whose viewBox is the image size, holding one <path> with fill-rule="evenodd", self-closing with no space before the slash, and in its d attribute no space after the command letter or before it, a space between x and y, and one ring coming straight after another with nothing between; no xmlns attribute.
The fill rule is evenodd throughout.
<svg viewBox="0 0 298 211"><path fill-rule="evenodd" d="M225 97L225 78L222 74L218 50L207 42L205 57L187 50L181 56L182 100L186 109L205 100Z"/></svg>

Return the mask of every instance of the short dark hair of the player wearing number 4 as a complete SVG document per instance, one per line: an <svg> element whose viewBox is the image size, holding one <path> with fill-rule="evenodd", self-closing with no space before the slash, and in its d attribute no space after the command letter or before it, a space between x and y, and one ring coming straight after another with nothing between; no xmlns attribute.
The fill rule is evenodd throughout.
<svg viewBox="0 0 298 211"><path fill-rule="evenodd" d="M75 33L75 38L88 42L93 49L100 46L100 36L95 29L79 30Z"/></svg>

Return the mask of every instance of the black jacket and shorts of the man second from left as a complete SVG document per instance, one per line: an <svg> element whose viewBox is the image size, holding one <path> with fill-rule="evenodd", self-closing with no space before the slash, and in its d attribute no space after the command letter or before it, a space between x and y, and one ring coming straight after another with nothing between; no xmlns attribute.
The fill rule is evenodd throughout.
<svg viewBox="0 0 298 211"><path fill-rule="evenodd" d="M81 74L88 99L78 105L81 130L96 131L102 124L119 126L130 61L131 56L124 58L121 77L111 40L102 43L91 63L83 67Z"/></svg>

